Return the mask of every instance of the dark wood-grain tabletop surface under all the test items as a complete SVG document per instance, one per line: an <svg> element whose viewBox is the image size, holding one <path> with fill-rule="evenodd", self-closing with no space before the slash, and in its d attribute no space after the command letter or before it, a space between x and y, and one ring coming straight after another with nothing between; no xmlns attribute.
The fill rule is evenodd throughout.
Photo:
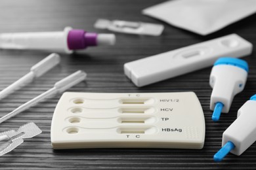
<svg viewBox="0 0 256 170"><path fill-rule="evenodd" d="M160 37L125 35L117 33L117 44L112 47L88 48L72 55L61 54L60 66L12 93L0 102L0 116L11 112L22 103L51 88L64 76L83 69L86 82L71 88L71 92L183 92L198 95L205 114L206 136L202 150L184 149L79 149L53 150L50 129L54 107L60 95L18 114L3 124L0 131L16 129L27 122L35 122L43 133L1 156L0 169L255 169L256 145L242 156L228 155L222 163L213 161L213 154L221 147L223 131L236 119L237 110L256 92L255 50L244 59L249 63L249 77L244 92L234 98L229 114L223 114L218 123L211 121L209 101L211 68L137 88L123 74L123 64L135 59L167 52L182 46L238 33L256 44L256 15L232 24L206 37L172 27L143 16L141 10L157 0L2 0L0 1L0 32L58 31L65 26L96 30L96 19L119 19L154 22L165 25ZM30 67L50 52L0 50L0 90L28 73Z"/></svg>

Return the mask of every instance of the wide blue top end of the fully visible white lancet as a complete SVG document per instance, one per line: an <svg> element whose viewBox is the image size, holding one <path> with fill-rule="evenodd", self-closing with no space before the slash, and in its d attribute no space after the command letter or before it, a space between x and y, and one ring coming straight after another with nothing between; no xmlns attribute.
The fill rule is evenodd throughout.
<svg viewBox="0 0 256 170"><path fill-rule="evenodd" d="M214 66L215 65L234 65L244 69L247 72L249 71L247 62L239 58L219 58L217 61L215 61Z"/></svg>

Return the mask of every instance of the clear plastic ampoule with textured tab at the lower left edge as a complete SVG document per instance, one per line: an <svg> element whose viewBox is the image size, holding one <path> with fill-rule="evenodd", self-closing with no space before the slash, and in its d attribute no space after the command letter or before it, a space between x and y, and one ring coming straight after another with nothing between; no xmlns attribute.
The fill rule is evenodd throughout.
<svg viewBox="0 0 256 170"><path fill-rule="evenodd" d="M17 131L10 130L0 133L0 156L11 152L22 144L25 138L32 138L42 133L33 122L20 126Z"/></svg>

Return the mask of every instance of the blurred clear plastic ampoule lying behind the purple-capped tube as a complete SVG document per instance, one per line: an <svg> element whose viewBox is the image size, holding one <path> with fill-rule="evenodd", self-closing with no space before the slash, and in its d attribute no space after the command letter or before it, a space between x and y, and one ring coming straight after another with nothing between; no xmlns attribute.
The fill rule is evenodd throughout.
<svg viewBox="0 0 256 170"><path fill-rule="evenodd" d="M163 32L163 25L146 22L128 22L123 20L98 19L95 23L97 29L108 29L119 33L159 36Z"/></svg>

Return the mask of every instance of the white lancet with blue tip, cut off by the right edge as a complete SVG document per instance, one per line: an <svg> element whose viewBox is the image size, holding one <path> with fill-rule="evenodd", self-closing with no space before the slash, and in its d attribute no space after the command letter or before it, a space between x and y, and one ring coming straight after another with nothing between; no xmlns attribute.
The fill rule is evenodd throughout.
<svg viewBox="0 0 256 170"><path fill-rule="evenodd" d="M256 95L238 110L238 118L224 131L222 148L213 159L217 162L231 152L240 156L256 141Z"/></svg>

